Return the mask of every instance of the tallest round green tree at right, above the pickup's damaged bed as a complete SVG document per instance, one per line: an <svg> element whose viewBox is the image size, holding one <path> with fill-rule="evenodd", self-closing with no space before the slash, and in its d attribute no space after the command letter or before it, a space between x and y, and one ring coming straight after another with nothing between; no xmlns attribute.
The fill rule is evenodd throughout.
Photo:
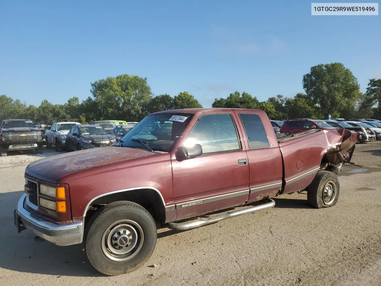
<svg viewBox="0 0 381 286"><path fill-rule="evenodd" d="M319 64L303 76L309 106L319 107L320 113L340 114L347 106L354 105L360 96L357 78L342 63ZM327 117L328 118L328 117Z"/></svg>

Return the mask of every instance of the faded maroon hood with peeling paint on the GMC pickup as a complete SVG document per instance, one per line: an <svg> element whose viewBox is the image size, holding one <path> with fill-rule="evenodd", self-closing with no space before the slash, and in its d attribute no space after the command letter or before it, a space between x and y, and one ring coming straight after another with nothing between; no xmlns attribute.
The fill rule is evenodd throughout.
<svg viewBox="0 0 381 286"><path fill-rule="evenodd" d="M82 170L159 155L160 153L127 147L91 148L34 161L26 167L25 174L53 183L61 177Z"/></svg>

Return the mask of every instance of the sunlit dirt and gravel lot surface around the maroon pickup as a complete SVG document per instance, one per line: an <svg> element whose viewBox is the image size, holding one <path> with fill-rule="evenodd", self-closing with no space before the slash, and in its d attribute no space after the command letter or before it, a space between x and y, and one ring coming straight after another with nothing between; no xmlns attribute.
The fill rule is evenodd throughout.
<svg viewBox="0 0 381 286"><path fill-rule="evenodd" d="M13 210L28 163L10 155L0 161L0 285L381 285L381 142L356 146L352 161L361 167L339 175L336 206L312 209L294 193L255 214L162 229L146 265L114 277L94 271L80 246L17 233Z"/></svg>

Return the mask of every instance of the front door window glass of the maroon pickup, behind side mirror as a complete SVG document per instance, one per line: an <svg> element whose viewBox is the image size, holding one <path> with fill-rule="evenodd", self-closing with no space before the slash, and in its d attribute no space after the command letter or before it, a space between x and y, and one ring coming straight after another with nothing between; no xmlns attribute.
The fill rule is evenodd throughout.
<svg viewBox="0 0 381 286"><path fill-rule="evenodd" d="M201 116L184 142L184 146L194 144L202 146L203 154L240 149L232 116L229 113Z"/></svg>

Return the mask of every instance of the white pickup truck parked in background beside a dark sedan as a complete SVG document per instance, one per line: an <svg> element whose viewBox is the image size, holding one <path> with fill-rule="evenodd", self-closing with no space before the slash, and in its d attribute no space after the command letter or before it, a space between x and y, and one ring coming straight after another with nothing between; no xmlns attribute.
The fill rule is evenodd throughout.
<svg viewBox="0 0 381 286"><path fill-rule="evenodd" d="M51 145L56 146L56 151L62 151L65 148L65 139L67 133L74 125L81 125L79 122L55 122L50 130L45 131L46 148Z"/></svg>

